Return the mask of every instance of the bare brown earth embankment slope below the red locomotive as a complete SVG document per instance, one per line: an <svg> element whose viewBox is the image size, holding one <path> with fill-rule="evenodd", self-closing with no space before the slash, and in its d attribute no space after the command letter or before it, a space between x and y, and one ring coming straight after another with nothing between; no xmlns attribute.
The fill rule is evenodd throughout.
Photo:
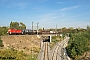
<svg viewBox="0 0 90 60"><path fill-rule="evenodd" d="M4 48L13 48L24 51L27 54L38 53L40 49L40 38L37 35L6 35L1 36Z"/></svg>

